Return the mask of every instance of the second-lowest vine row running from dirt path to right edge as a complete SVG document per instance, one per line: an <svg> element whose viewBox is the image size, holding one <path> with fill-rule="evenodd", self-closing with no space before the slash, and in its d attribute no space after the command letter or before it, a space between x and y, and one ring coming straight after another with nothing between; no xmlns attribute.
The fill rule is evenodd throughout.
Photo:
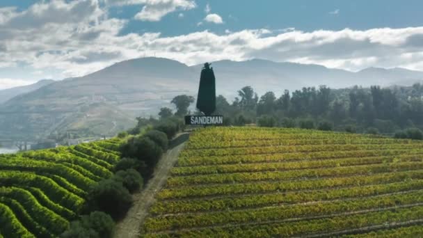
<svg viewBox="0 0 423 238"><path fill-rule="evenodd" d="M353 200L335 200L327 203L321 201L319 203L287 206L280 205L276 207L239 211L157 216L147 219L144 228L147 232L158 232L183 228L202 228L216 225L279 221L308 216L342 214L344 212L355 212L365 209L423 204L423 191L412 191L400 194L392 193L388 195L357 198Z"/></svg>

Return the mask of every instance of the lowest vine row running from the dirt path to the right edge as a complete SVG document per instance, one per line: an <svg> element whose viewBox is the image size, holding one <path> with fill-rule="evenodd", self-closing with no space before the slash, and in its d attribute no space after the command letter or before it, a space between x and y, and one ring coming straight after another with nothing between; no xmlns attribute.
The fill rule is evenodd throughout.
<svg viewBox="0 0 423 238"><path fill-rule="evenodd" d="M346 230L363 229L378 225L380 230L390 228L394 223L423 223L423 206L409 208L388 207L376 211L351 212L339 216L321 216L315 219L293 222L274 222L264 225L227 225L192 230L175 230L168 232L147 233L152 237L305 237L307 235L325 234ZM420 225L421 232L421 225ZM345 233L344 233L345 234ZM333 235L334 236L334 235Z"/></svg>

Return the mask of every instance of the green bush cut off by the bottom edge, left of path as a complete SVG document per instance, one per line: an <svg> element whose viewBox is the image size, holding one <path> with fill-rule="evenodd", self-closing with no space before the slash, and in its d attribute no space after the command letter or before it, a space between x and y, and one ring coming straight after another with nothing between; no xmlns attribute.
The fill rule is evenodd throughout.
<svg viewBox="0 0 423 238"><path fill-rule="evenodd" d="M81 221L74 221L70 229L64 232L61 237L101 237L111 238L115 230L115 222L104 212L91 212L90 215L81 216Z"/></svg>

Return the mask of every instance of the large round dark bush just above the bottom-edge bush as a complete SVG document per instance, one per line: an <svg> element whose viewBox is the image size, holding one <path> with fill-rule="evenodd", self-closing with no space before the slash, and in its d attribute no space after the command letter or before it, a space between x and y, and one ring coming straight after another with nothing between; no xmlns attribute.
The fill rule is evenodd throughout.
<svg viewBox="0 0 423 238"><path fill-rule="evenodd" d="M124 215L132 205L131 194L122 182L102 180L88 191L86 204L90 211L110 214L113 219Z"/></svg>

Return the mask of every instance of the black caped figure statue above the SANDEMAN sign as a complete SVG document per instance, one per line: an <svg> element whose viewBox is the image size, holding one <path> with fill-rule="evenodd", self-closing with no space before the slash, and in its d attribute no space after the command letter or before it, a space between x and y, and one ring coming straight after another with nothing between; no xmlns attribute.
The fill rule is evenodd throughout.
<svg viewBox="0 0 423 238"><path fill-rule="evenodd" d="M216 79L210 63L205 63L201 70L200 88L198 88L197 108L206 116L216 110Z"/></svg>

